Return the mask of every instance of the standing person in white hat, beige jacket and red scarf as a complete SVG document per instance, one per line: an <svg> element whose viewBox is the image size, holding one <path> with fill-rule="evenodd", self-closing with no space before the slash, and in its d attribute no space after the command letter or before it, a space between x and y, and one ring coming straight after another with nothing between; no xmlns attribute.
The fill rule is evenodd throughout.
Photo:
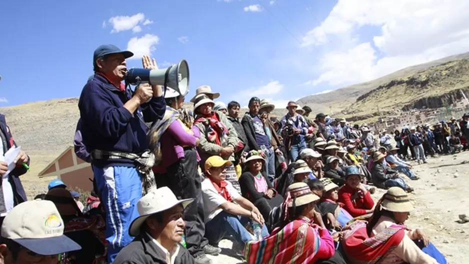
<svg viewBox="0 0 469 264"><path fill-rule="evenodd" d="M200 144L197 149L201 158L199 164L202 166L212 155L234 162L234 153L243 148L231 122L222 112L212 110L213 105L213 100L206 94L199 94L194 98L194 124L200 130ZM226 180L241 192L233 165L226 168Z"/></svg>

